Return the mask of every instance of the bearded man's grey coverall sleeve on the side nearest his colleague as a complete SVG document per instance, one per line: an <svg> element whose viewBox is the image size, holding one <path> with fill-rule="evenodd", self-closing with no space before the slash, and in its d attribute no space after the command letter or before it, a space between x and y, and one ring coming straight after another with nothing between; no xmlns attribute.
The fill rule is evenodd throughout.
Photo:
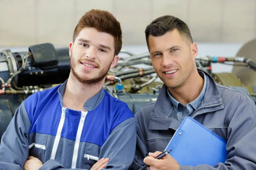
<svg viewBox="0 0 256 170"><path fill-rule="evenodd" d="M127 109L124 109L127 110ZM127 111L120 112L127 113ZM130 111L129 111L130 112ZM132 114L132 113L127 113ZM133 114L132 114L133 115ZM99 158L109 158L105 169L128 170L135 154L136 120L134 117L126 119L117 125L108 136L100 149ZM39 170L71 170L55 160L46 161ZM105 170L103 169L103 170ZM82 170L82 169L72 169Z"/></svg>

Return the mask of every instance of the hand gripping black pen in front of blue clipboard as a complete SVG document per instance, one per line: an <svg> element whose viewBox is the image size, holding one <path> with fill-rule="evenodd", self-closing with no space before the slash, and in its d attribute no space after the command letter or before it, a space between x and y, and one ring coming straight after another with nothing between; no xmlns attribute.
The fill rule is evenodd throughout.
<svg viewBox="0 0 256 170"><path fill-rule="evenodd" d="M179 170L180 165L169 154L162 159L155 159L161 152L148 153L148 156L143 160L145 164L150 165L149 170Z"/></svg>

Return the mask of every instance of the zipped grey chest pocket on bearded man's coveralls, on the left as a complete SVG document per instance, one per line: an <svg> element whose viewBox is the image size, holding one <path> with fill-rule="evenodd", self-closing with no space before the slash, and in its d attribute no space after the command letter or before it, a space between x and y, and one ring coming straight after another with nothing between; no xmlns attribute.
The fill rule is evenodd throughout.
<svg viewBox="0 0 256 170"><path fill-rule="evenodd" d="M35 136L32 144L29 144L29 156L34 156L44 163L47 135Z"/></svg>

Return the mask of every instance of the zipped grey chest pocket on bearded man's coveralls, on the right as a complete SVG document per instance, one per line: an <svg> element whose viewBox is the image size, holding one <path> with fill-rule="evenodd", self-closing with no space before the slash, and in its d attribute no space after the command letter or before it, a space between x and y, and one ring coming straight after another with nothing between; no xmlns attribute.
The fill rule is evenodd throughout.
<svg viewBox="0 0 256 170"><path fill-rule="evenodd" d="M99 160L100 147L96 144L87 143L84 149L82 169L90 170Z"/></svg>

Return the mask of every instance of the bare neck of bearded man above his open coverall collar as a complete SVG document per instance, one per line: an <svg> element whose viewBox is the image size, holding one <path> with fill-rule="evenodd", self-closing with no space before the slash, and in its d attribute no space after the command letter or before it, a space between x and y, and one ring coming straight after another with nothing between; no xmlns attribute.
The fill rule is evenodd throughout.
<svg viewBox="0 0 256 170"><path fill-rule="evenodd" d="M76 111L85 111L84 103L99 93L103 84L104 79L96 85L86 85L70 75L63 94L63 106Z"/></svg>

